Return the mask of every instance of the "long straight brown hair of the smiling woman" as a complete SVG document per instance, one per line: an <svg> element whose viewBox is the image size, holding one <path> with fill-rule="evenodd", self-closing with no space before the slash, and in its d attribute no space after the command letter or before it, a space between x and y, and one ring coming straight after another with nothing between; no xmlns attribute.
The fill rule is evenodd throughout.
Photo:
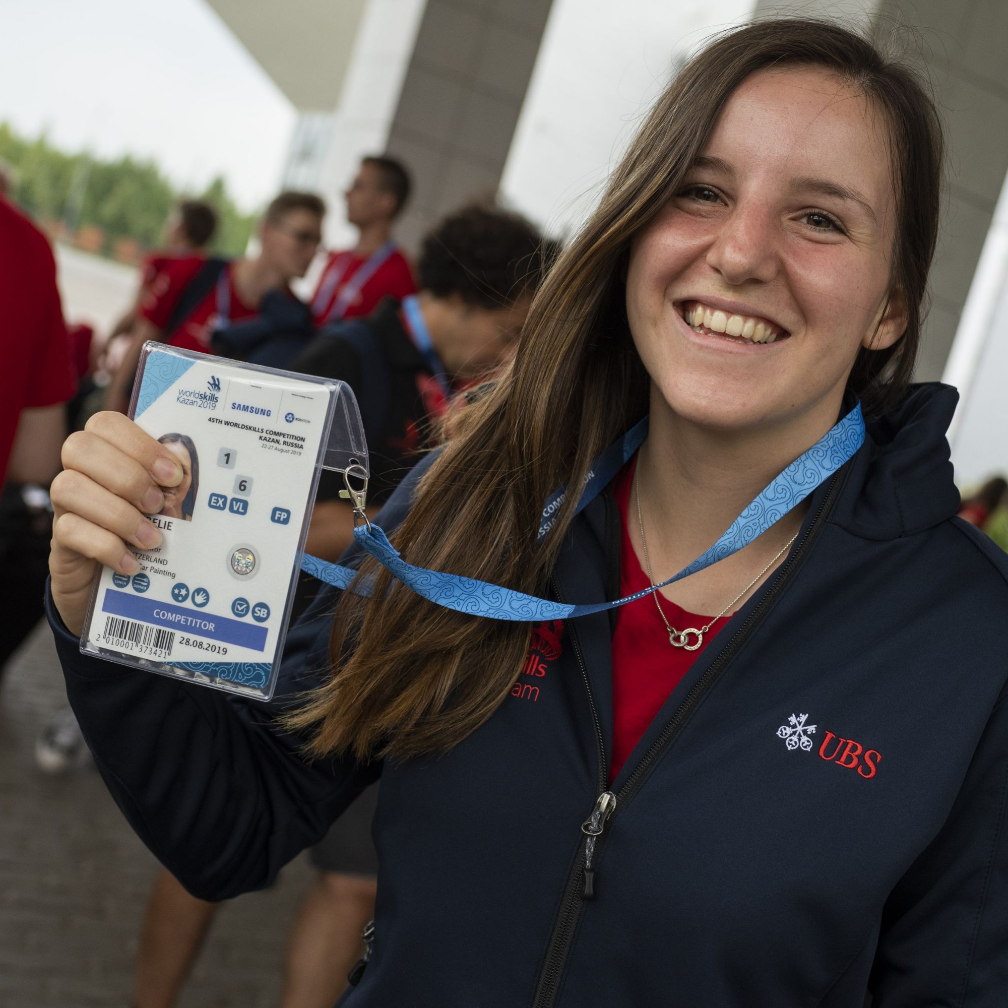
<svg viewBox="0 0 1008 1008"><path fill-rule="evenodd" d="M394 536L411 562L542 594L570 525L569 494L536 545L540 510L561 484L647 408L648 377L627 325L621 266L634 235L672 198L718 113L751 74L822 67L888 114L898 218L891 287L909 312L889 351L860 351L850 384L866 411L898 398L919 338L937 230L941 129L913 72L836 24L758 21L710 43L647 116L598 209L536 295L515 362L470 407L420 481ZM494 713L528 646L524 624L465 616L411 593L368 557L370 599L345 593L334 622L332 681L290 720L318 754L404 759L450 749Z"/></svg>

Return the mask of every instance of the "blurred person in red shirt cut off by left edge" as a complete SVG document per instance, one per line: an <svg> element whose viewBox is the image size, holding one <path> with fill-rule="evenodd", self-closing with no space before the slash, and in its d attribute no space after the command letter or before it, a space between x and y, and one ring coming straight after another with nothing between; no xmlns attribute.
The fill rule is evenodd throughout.
<svg viewBox="0 0 1008 1008"><path fill-rule="evenodd" d="M3 178L0 165L0 178ZM48 487L76 380L48 240L0 196L0 671L41 619Z"/></svg>

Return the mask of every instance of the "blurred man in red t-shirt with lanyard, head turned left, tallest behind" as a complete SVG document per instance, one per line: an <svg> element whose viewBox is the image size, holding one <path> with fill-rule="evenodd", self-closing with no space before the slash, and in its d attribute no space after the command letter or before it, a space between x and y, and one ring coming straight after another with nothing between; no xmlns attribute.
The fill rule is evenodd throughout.
<svg viewBox="0 0 1008 1008"><path fill-rule="evenodd" d="M358 230L352 249L331 252L311 297L319 326L369 316L384 297L416 292L409 262L392 241L392 222L409 199L409 174L392 157L370 156L347 190L347 221Z"/></svg>

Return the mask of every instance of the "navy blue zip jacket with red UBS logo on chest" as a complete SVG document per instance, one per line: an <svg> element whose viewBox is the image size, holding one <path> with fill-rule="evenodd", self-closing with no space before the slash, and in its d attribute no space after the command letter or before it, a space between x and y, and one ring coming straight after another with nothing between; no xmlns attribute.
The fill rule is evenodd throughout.
<svg viewBox="0 0 1008 1008"><path fill-rule="evenodd" d="M955 517L955 401L917 387L870 427L611 787L605 614L539 628L512 695L436 759L305 762L283 697L82 656L50 608L74 710L207 899L268 885L381 774L374 951L346 1008L1003 1008L1008 564ZM565 601L615 597L619 520L604 494L575 521ZM287 702L326 674L334 601L288 637Z"/></svg>

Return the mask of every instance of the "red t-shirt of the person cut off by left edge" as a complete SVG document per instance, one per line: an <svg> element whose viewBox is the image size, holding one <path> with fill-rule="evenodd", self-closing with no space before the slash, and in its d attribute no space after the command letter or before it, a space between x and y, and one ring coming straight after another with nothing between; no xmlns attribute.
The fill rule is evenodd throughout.
<svg viewBox="0 0 1008 1008"><path fill-rule="evenodd" d="M0 484L21 410L66 402L75 380L45 236L0 197Z"/></svg>

